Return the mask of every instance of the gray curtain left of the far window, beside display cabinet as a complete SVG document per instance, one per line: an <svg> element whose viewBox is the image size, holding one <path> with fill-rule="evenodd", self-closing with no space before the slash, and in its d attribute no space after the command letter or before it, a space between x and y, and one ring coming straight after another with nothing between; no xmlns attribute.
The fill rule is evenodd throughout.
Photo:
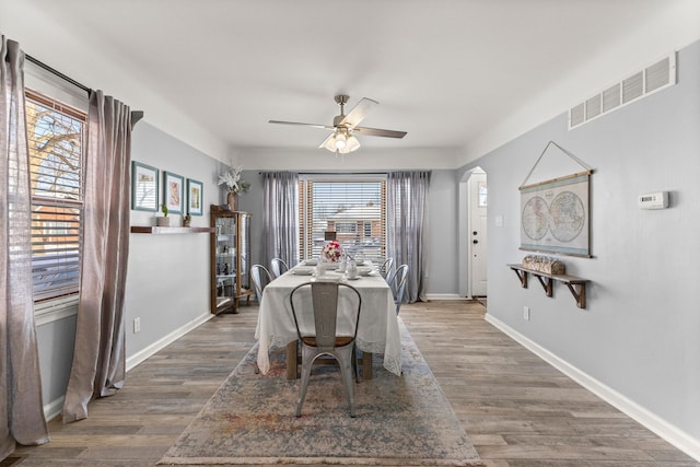
<svg viewBox="0 0 700 467"><path fill-rule="evenodd" d="M264 266L282 258L293 267L299 262L299 174L267 172L262 176Z"/></svg>

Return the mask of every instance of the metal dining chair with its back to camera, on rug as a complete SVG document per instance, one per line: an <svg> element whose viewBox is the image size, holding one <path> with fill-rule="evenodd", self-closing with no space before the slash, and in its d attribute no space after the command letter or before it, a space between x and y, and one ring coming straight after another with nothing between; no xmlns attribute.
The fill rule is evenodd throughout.
<svg viewBox="0 0 700 467"><path fill-rule="evenodd" d="M343 308L343 313L339 317L338 296L341 293L343 294L342 303L346 303L347 300L351 305ZM347 296L345 296L346 294ZM360 308L362 307L360 292L352 285L340 282L305 282L292 290L289 301L296 326L296 335L302 343L302 377L299 401L296 402L296 417L302 416L302 405L308 388L311 369L314 361L320 355L330 355L338 361L348 397L350 417L354 417L352 370L354 367L355 380L358 380L354 341L358 336ZM302 303L311 304L311 310L308 306L302 306ZM311 319L313 319L313 325ZM342 323L342 331L338 328L339 320Z"/></svg>

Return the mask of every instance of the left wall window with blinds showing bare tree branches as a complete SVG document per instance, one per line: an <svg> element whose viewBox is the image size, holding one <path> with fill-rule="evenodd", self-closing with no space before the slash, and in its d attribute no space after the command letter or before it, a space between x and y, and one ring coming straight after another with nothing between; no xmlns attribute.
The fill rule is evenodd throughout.
<svg viewBox="0 0 700 467"><path fill-rule="evenodd" d="M26 90L35 302L78 292L86 116Z"/></svg>

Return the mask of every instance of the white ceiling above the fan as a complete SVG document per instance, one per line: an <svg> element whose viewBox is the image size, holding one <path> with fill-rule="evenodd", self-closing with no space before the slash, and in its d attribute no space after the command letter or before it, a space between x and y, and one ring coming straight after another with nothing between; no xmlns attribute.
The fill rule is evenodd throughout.
<svg viewBox="0 0 700 467"><path fill-rule="evenodd" d="M316 148L326 137L325 130L267 121L330 124L338 114L332 98L338 93L350 95L346 110L363 96L380 102L362 125L408 131L402 140L363 137L363 148L486 149L486 136L498 139L497 130L511 124L513 130L517 125L537 125L586 97L582 93L623 78L593 73L586 66L595 60L608 60L615 66L606 71L621 73L635 71L632 67L669 52L639 50L629 38L645 34L658 44L658 37L673 34L664 17L672 13L678 16L682 9L696 14L700 3L23 2L60 22L80 47L98 50L139 86L171 102L175 113L190 116L222 144L234 149ZM12 8L10 1L2 0L1 4ZM12 24L7 26L12 28ZM16 39L21 42L22 37ZM612 57L616 50L633 52ZM70 63L56 54L43 57L39 50L26 51L79 81L97 79L95 70L85 71L91 67L91 55L82 49L70 50L78 57ZM61 66L70 69L62 70ZM620 71L614 70L618 66ZM92 81L85 84L101 86ZM558 94L552 98L555 91ZM118 90L113 93L119 97ZM154 104L135 101L127 103L143 108L147 120L158 120Z"/></svg>

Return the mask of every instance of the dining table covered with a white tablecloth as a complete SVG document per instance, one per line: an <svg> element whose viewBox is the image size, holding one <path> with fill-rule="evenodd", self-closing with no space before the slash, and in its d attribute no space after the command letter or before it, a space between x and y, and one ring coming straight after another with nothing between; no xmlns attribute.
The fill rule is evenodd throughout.
<svg viewBox="0 0 700 467"><path fill-rule="evenodd" d="M292 290L302 283L330 280L348 283L360 292L362 304L355 343L362 351L363 378L372 377L373 354L383 355L383 366L388 372L401 375L401 339L392 289L371 264L361 267L360 271L361 276L348 279L346 272L318 269L316 266L301 262L265 287L255 331L259 346L257 365L260 373L267 374L270 370L270 351L287 349L287 377L298 377L299 335L290 295ZM304 306L311 307L311 299ZM352 313L350 306L350 302L339 300L339 316ZM347 320L339 319L339 323L341 322Z"/></svg>

